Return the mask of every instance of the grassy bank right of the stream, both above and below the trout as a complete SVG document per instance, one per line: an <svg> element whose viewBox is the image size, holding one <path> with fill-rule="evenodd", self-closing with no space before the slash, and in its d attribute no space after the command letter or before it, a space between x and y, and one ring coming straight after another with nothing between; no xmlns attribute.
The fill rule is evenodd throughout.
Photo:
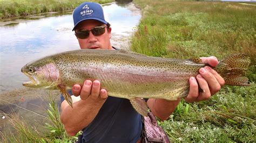
<svg viewBox="0 0 256 143"><path fill-rule="evenodd" d="M159 122L174 142L256 140L255 5L223 2L135 0L143 18L132 51L167 58L233 53L251 56L250 87L225 86L205 102L181 102L169 120Z"/></svg>

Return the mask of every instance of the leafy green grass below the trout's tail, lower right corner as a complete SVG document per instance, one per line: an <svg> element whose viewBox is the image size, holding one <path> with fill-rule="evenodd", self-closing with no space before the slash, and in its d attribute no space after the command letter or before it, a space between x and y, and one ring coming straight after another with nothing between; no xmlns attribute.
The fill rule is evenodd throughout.
<svg viewBox="0 0 256 143"><path fill-rule="evenodd" d="M159 124L172 141L253 142L255 88L255 83L251 87L226 86L208 101L182 101L170 119Z"/></svg>

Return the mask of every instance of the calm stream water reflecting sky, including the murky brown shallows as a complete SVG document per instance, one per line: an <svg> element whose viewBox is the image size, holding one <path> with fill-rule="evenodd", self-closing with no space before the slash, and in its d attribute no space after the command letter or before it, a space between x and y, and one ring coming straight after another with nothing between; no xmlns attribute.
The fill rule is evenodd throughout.
<svg viewBox="0 0 256 143"><path fill-rule="evenodd" d="M132 3L122 1L105 4L103 9L112 27L112 46L129 48L131 35L141 17L140 10ZM0 20L0 117L12 109L31 125L45 120L28 110L46 115L47 94L44 90L23 87L22 82L29 78L21 73L21 68L46 55L79 49L72 28L72 11ZM59 92L55 95L58 101ZM7 119L0 118L0 132L9 128Z"/></svg>

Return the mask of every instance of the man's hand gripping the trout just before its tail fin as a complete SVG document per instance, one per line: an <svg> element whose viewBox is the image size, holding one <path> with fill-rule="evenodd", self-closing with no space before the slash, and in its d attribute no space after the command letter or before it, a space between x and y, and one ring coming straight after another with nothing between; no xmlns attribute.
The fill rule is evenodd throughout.
<svg viewBox="0 0 256 143"><path fill-rule="evenodd" d="M200 58L203 63L208 63L212 67L218 65L218 59L215 56ZM224 79L212 68L206 66L199 70L197 77L190 77L190 92L185 97L187 102L198 102L209 99L212 95L218 92L225 84ZM198 81L198 83L197 83ZM198 85L199 84L199 85ZM198 86L204 90L204 92L198 91Z"/></svg>

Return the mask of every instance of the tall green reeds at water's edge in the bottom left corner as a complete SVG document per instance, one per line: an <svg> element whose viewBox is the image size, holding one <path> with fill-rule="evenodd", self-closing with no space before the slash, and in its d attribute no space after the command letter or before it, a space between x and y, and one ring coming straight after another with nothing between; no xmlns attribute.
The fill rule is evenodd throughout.
<svg viewBox="0 0 256 143"><path fill-rule="evenodd" d="M2 142L76 142L80 133L74 137L69 137L66 134L65 128L60 121L60 112L55 102L56 99L53 98L51 91L47 92L47 100L49 101L49 106L45 112L48 116L42 125L45 130L42 130L42 128L38 130L37 127L26 123L22 116L8 115L9 123L14 128L14 132L11 132L11 135L1 132Z"/></svg>

